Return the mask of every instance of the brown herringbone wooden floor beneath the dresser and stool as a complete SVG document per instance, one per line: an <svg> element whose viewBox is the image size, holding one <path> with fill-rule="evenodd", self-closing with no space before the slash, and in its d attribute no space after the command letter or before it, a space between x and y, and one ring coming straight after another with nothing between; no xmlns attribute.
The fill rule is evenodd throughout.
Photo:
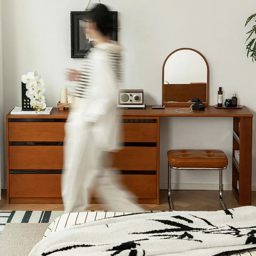
<svg viewBox="0 0 256 256"><path fill-rule="evenodd" d="M222 207L218 200L217 190L173 190L173 204L175 210L182 211L216 211ZM239 207L232 191L224 191L223 199L227 208ZM256 191L252 191L252 205L256 206ZM160 204L140 204L149 211L169 210L167 190L160 190ZM2 190L0 210L16 211L63 211L63 204L7 204L6 190ZM89 204L87 210L108 210L106 204Z"/></svg>

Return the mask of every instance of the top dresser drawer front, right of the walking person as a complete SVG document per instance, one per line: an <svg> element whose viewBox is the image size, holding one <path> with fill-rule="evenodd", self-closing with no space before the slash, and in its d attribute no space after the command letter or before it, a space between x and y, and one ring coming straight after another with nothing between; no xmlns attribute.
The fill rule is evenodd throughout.
<svg viewBox="0 0 256 256"><path fill-rule="evenodd" d="M123 142L157 142L157 124L124 123Z"/></svg>

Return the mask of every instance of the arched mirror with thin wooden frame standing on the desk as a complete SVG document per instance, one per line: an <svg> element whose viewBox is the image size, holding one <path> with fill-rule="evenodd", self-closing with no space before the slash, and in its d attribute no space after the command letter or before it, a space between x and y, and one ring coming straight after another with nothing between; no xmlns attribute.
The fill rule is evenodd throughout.
<svg viewBox="0 0 256 256"><path fill-rule="evenodd" d="M191 105L193 98L209 104L209 65L195 49L180 48L163 63L162 104Z"/></svg>

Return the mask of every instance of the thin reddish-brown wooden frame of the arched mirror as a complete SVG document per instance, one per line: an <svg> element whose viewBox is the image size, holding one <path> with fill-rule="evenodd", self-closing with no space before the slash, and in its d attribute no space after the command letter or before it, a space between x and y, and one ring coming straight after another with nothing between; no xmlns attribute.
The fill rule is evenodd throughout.
<svg viewBox="0 0 256 256"><path fill-rule="evenodd" d="M166 61L168 60L168 58L172 54L174 54L177 51L181 51L181 50L191 50L191 51L194 51L194 52L198 53L199 55L201 55L202 58L205 61L205 64L207 66L207 92L206 92L206 102L203 102L203 103L204 103L205 106L208 106L209 105L209 73L210 73L209 65L208 65L208 62L205 59L205 57L200 52L198 52L197 50L192 49L192 48L179 48L179 49L176 49L175 51L170 53L166 57L165 62L163 62L163 68L162 68L162 105L165 105L165 106L187 106L187 105L190 106L191 105L191 102L165 102L164 101L164 70L165 70L165 63L166 63Z"/></svg>

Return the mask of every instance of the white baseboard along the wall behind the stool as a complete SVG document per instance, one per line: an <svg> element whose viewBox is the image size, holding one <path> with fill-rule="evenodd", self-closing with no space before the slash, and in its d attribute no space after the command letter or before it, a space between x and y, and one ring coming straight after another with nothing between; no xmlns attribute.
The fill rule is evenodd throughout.
<svg viewBox="0 0 256 256"><path fill-rule="evenodd" d="M168 189L167 183L160 183L160 189ZM172 183L172 189L177 190L218 190L219 184L197 184L197 183ZM231 184L223 184L224 190L232 190ZM256 191L256 185L252 185L252 191Z"/></svg>

